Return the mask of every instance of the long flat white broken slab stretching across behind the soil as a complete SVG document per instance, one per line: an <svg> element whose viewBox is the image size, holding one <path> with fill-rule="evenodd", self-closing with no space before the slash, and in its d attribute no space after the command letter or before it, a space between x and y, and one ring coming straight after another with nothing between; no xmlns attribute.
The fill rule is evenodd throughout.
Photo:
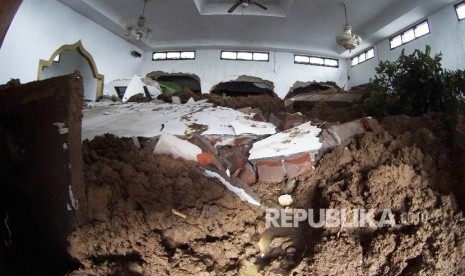
<svg viewBox="0 0 465 276"><path fill-rule="evenodd" d="M192 105L176 105L152 101L95 106L83 111L83 140L111 133L119 137L155 137L160 134L177 136L201 133L237 137L231 121L239 121L236 127L252 135L276 133L272 124L256 122L250 115L227 107L213 107L211 103L198 101ZM106 114L106 116L101 116ZM255 127L254 127L255 126Z"/></svg>

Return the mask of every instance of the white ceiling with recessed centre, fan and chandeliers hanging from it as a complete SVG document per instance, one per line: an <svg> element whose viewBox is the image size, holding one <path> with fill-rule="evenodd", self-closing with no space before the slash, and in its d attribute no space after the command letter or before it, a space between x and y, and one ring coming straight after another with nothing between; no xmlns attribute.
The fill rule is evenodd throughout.
<svg viewBox="0 0 465 276"><path fill-rule="evenodd" d="M98 24L125 37L137 21L143 0L58 0ZM268 7L239 6L235 0L149 0L146 23L150 39L130 40L144 50L245 49L278 50L328 57L348 57L335 42L349 23L363 44L353 53L393 35L456 0L255 0ZM353 54L352 53L352 54Z"/></svg>

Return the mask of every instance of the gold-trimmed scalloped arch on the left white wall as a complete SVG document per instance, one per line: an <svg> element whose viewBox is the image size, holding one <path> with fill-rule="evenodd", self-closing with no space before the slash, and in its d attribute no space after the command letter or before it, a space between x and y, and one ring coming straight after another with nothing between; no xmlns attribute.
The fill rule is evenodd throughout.
<svg viewBox="0 0 465 276"><path fill-rule="evenodd" d="M37 79L48 79L79 71L84 81L84 100L95 101L103 93L103 75L98 73L92 55L84 48L81 41L63 45L57 49L49 60L39 61Z"/></svg>

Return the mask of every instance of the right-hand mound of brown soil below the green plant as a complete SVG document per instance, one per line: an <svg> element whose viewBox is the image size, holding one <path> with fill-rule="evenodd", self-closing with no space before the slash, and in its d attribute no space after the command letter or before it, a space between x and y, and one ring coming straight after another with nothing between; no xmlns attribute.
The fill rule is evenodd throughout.
<svg viewBox="0 0 465 276"><path fill-rule="evenodd" d="M396 116L382 125L325 155L297 205L373 208L378 220L389 208L395 226L326 228L293 275L464 275L465 219L451 194L463 180L448 158L447 121Z"/></svg>

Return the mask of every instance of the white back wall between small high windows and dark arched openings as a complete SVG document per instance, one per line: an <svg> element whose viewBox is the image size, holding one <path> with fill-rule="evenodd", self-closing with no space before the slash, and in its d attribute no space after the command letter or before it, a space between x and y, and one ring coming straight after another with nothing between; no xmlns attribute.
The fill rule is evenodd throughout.
<svg viewBox="0 0 465 276"><path fill-rule="evenodd" d="M221 50L197 50L195 60L152 61L151 52L144 55L142 73L152 71L192 73L200 77L203 93L214 85L249 75L272 81L275 92L284 98L296 81L334 81L340 87L347 83L347 61L339 68L294 64L294 54L270 52L268 62L221 60Z"/></svg>

